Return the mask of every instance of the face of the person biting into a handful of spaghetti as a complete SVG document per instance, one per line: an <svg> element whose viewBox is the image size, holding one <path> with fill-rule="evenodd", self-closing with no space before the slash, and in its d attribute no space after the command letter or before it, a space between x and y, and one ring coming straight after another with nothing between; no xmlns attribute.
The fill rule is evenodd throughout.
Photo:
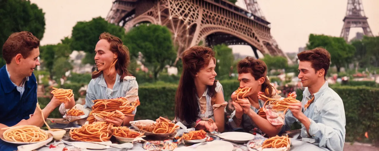
<svg viewBox="0 0 379 151"><path fill-rule="evenodd" d="M265 78L261 77L257 80L253 77L251 73L241 73L238 74L238 81L240 81L240 88L251 88L250 92L247 93L247 96L252 94L257 94L261 88Z"/></svg>

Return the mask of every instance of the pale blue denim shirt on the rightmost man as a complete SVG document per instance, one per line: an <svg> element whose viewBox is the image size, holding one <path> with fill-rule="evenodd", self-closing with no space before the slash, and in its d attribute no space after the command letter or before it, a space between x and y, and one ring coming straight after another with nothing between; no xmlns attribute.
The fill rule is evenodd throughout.
<svg viewBox="0 0 379 151"><path fill-rule="evenodd" d="M328 82L314 94L315 100L304 111L304 105L312 98L308 88L303 92L301 101L302 111L311 122L309 134L303 124L297 120L291 111L285 115L285 126L282 132L289 130L294 122L301 124L301 137L315 139L314 145L327 148L331 151L342 151L345 143L345 108L340 96L333 89L329 88Z"/></svg>

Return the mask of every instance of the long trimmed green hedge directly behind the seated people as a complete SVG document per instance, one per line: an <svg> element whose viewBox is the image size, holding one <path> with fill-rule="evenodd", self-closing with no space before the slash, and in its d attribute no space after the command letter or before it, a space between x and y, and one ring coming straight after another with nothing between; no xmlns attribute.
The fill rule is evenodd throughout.
<svg viewBox="0 0 379 151"><path fill-rule="evenodd" d="M237 80L222 80L220 83L224 88L224 98L228 101L232 92L238 88L239 82ZM379 88L333 85L331 88L339 94L344 102L346 142L360 141L379 144L379 133L377 133L377 129L379 129L379 103L377 103ZM155 85L140 86L138 93L141 105L138 106L135 119L155 120L160 116L174 119L176 89L176 84L162 82L157 82ZM301 100L302 90L297 90L296 93L298 94L296 99ZM42 105L50 101L49 99L38 99ZM59 112L55 112L49 117L61 117ZM364 137L365 132L368 132L368 139Z"/></svg>

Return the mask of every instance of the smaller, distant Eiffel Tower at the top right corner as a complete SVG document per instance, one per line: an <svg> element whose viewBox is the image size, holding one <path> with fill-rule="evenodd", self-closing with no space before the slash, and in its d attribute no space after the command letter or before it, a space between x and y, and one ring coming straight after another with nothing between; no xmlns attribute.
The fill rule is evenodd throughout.
<svg viewBox="0 0 379 151"><path fill-rule="evenodd" d="M346 16L343 18L343 27L340 37L348 41L350 28L362 28L363 34L373 36L367 23L365 11L363 11L362 0L348 0Z"/></svg>

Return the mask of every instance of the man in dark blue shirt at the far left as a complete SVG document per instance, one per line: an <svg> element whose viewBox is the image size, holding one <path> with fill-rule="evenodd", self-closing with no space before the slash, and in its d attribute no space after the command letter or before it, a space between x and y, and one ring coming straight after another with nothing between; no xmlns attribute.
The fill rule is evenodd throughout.
<svg viewBox="0 0 379 151"><path fill-rule="evenodd" d="M27 31L9 36L3 45L3 58L6 61L0 69L0 128L15 125L43 126L42 113L36 108L37 80L33 74L40 65L39 40ZM44 117L61 102L53 99L43 109ZM67 106L72 106L67 102ZM4 130L0 130L3 137ZM0 140L0 151L17 150L16 144Z"/></svg>

